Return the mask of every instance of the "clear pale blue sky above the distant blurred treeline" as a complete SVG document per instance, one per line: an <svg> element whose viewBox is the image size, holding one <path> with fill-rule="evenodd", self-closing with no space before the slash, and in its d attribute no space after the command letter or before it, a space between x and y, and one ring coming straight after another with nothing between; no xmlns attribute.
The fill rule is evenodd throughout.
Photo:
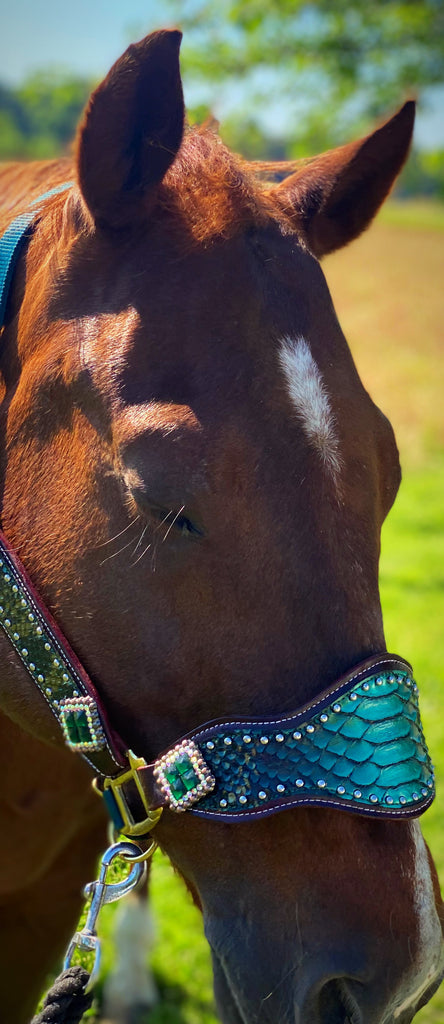
<svg viewBox="0 0 444 1024"><path fill-rule="evenodd" d="M131 41L167 26L162 0L2 0L0 81L14 85L47 67L99 78ZM416 141L444 146L444 86L418 113Z"/></svg>

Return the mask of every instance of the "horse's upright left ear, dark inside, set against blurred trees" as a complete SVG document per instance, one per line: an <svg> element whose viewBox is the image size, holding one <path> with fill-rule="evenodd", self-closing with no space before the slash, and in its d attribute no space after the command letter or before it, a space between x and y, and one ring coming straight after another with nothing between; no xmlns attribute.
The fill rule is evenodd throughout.
<svg viewBox="0 0 444 1024"><path fill-rule="evenodd" d="M80 188L100 227L130 227L152 205L179 150L184 105L180 32L129 46L92 93L79 129Z"/></svg>

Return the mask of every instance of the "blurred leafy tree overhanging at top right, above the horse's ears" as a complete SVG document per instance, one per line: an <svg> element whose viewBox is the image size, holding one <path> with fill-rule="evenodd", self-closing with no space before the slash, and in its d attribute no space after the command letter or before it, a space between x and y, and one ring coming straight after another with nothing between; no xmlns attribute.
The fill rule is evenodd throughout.
<svg viewBox="0 0 444 1024"><path fill-rule="evenodd" d="M208 105L286 136L292 155L351 131L444 81L443 0L165 0L183 65ZM286 120L285 120L286 119ZM227 133L228 134L228 133ZM314 150L312 148L314 146Z"/></svg>

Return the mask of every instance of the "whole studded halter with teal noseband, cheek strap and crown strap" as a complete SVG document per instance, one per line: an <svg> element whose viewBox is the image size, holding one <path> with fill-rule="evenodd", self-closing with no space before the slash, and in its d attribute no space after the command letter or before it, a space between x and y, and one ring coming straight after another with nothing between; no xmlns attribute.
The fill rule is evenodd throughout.
<svg viewBox="0 0 444 1024"><path fill-rule="evenodd" d="M45 193L0 239L0 328L18 254ZM408 662L383 652L290 714L209 722L147 764L107 722L93 683L0 530L0 627L96 774L119 833L146 837L164 808L218 821L327 806L368 817L417 817L434 770Z"/></svg>

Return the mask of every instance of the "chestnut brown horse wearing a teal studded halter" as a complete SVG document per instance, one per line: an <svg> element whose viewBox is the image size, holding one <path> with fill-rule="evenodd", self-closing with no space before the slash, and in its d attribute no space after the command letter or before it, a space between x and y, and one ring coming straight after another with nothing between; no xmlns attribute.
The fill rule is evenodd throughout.
<svg viewBox="0 0 444 1024"><path fill-rule="evenodd" d="M385 651L380 534L400 482L319 261L388 195L413 103L276 181L185 127L180 39L116 62L74 166L1 176L3 230L73 181L8 297L2 527L147 763L202 722L282 718ZM3 635L0 651L0 1006L27 1024L106 815ZM416 820L167 808L156 838L202 910L223 1024L407 1024L438 987Z"/></svg>

